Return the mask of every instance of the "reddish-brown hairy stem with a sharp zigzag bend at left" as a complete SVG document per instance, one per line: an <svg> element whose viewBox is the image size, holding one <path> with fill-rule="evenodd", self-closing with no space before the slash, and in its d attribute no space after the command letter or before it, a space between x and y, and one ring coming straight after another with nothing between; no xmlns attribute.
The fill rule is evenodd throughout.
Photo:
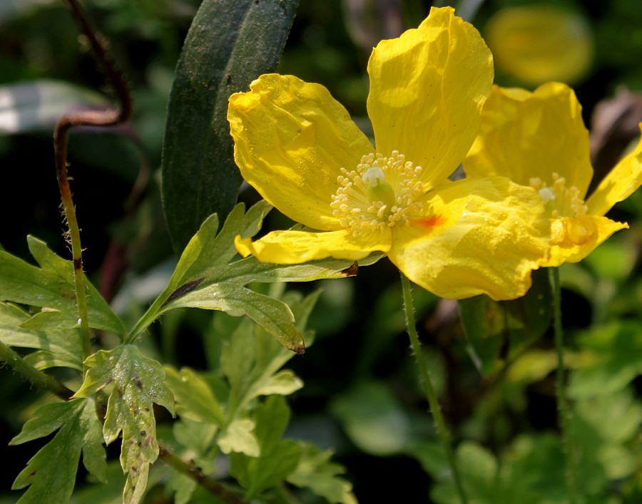
<svg viewBox="0 0 642 504"><path fill-rule="evenodd" d="M129 88L121 71L109 56L101 37L88 21L86 12L81 8L78 0L66 0L66 3L73 14L76 23L83 35L86 36L93 52L96 54L99 63L107 74L113 90L118 96L120 110L88 110L79 113L64 115L54 130L54 150L56 158L56 178L62 200L62 207L67 226L69 228L69 239L71 241L71 255L73 257L73 277L76 284L76 299L78 301L78 324L80 325L80 338L83 348L83 360L91 355L91 341L89 334L89 317L87 309L87 297L85 293L85 274L83 273L83 257L80 239L80 229L76 220L76 207L73 205L71 188L67 176L67 144L69 130L74 126L112 126L124 123L131 115L132 101ZM83 365L83 374L88 371Z"/></svg>

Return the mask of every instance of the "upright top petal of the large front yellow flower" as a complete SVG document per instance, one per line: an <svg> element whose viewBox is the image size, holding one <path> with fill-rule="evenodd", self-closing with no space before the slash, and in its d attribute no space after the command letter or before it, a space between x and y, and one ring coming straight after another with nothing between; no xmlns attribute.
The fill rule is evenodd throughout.
<svg viewBox="0 0 642 504"><path fill-rule="evenodd" d="M380 42L368 73L377 152L398 150L422 166L427 187L447 178L477 135L493 81L479 32L451 7L433 8L418 29Z"/></svg>

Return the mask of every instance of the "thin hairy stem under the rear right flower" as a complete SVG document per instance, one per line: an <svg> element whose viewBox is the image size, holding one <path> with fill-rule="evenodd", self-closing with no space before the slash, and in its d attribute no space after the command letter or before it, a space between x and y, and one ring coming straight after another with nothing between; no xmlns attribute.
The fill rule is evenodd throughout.
<svg viewBox="0 0 642 504"><path fill-rule="evenodd" d="M561 429L561 442L566 457L566 485L569 488L569 504L578 502L577 485L577 451L571 425L572 412L566 400L566 381L564 370L564 330L561 322L561 289L559 287L559 269L549 268L549 280L553 292L553 332L557 354L557 414Z"/></svg>

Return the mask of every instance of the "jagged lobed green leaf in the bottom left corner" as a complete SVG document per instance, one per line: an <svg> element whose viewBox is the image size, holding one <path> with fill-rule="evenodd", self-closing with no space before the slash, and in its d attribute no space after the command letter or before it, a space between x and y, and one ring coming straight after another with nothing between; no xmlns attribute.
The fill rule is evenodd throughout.
<svg viewBox="0 0 642 504"><path fill-rule="evenodd" d="M56 436L31 458L14 481L11 487L14 490L31 485L19 503L68 502L76 483L81 451L85 468L99 480L106 481L101 423L92 399L71 399L41 406L9 444L42 438L58 428Z"/></svg>

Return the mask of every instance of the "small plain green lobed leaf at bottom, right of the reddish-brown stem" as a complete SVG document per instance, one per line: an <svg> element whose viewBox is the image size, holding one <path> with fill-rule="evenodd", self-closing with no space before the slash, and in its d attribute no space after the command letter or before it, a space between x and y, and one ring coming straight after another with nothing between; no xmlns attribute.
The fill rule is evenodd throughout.
<svg viewBox="0 0 642 504"><path fill-rule="evenodd" d="M255 436L260 457L230 453L230 473L243 487L248 488L245 500L285 480L297 468L301 448L291 439L281 440L290 409L282 396L269 396L255 413Z"/></svg>

